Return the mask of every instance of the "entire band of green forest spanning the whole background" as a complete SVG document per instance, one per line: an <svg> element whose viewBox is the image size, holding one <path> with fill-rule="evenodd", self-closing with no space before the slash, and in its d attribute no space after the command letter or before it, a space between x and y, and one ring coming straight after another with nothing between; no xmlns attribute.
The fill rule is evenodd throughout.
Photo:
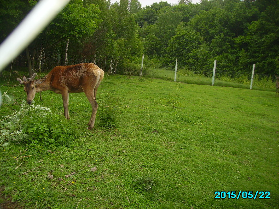
<svg viewBox="0 0 279 209"><path fill-rule="evenodd" d="M2 42L37 3L0 1ZM71 0L13 60L13 70L50 71L57 65L94 62L105 72L137 72L173 64L211 74L214 59L228 76L279 74L277 0L166 1L142 8L137 0ZM11 69L9 65L6 70Z"/></svg>

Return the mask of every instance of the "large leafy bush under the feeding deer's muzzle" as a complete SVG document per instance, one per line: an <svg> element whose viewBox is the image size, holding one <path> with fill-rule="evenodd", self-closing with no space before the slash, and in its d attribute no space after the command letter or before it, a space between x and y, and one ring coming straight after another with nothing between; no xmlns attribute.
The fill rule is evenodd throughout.
<svg viewBox="0 0 279 209"><path fill-rule="evenodd" d="M74 140L73 125L47 107L22 104L20 111L0 121L0 146L21 142L43 153Z"/></svg>

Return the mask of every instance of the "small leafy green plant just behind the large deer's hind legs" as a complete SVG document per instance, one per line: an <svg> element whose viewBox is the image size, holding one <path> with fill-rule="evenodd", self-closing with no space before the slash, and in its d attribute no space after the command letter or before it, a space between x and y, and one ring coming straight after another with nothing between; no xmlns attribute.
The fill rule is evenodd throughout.
<svg viewBox="0 0 279 209"><path fill-rule="evenodd" d="M111 96L105 97L98 108L100 126L104 128L116 127L116 113L118 105Z"/></svg>

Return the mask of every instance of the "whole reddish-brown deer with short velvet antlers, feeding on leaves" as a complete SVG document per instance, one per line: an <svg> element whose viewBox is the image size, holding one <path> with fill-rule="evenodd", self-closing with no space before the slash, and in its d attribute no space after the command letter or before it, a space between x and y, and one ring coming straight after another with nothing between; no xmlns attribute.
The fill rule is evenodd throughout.
<svg viewBox="0 0 279 209"><path fill-rule="evenodd" d="M84 92L92 106L92 114L88 125L88 130L94 128L98 103L96 101L97 88L104 78L104 71L93 63L82 63L69 66L57 66L52 69L45 77L34 78L37 74L34 73L31 78L23 76L23 81L18 78L20 84L24 85L24 91L27 94L27 103L31 104L36 92L54 91L56 94L61 94L64 106L64 116L69 117L69 93Z"/></svg>

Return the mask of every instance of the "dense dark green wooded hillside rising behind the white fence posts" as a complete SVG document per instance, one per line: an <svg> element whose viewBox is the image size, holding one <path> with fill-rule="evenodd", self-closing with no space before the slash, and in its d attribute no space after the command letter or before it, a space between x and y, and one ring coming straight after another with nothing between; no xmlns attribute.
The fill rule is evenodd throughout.
<svg viewBox="0 0 279 209"><path fill-rule="evenodd" d="M153 14L151 11L150 20L140 15ZM252 64L256 64L257 73L279 73L276 0L203 0L166 5L158 11L146 7L140 14L136 21L145 52L162 64L174 63L177 58L180 65L199 68L207 75L217 59L218 68L230 76L236 76L235 72L250 74Z"/></svg>

